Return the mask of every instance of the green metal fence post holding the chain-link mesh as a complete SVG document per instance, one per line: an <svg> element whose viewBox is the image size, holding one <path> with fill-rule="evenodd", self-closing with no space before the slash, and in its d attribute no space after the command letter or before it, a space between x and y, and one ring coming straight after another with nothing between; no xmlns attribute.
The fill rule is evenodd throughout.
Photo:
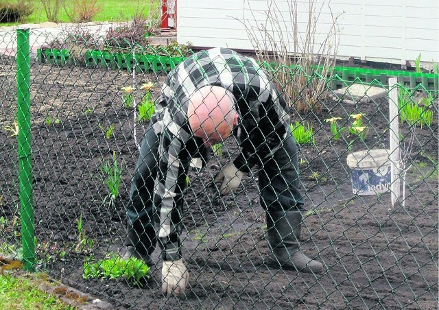
<svg viewBox="0 0 439 310"><path fill-rule="evenodd" d="M32 193L32 136L30 131L30 49L29 29L17 29L17 119L19 123L19 182L21 204L21 242L23 268L33 271L35 265L35 228Z"/></svg>

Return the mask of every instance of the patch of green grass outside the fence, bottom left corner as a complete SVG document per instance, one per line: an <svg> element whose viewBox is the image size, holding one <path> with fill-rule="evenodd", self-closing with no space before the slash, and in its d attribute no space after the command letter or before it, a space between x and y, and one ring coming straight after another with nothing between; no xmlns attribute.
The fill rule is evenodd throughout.
<svg viewBox="0 0 439 310"><path fill-rule="evenodd" d="M54 295L38 289L38 275L0 274L0 309L74 309Z"/></svg>

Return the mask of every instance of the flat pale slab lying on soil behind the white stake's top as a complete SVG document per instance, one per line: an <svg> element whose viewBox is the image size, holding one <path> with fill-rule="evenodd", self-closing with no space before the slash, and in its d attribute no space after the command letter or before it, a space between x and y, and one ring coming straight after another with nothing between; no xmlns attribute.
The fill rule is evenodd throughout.
<svg viewBox="0 0 439 310"><path fill-rule="evenodd" d="M352 84L351 86L340 88L334 91L337 100L343 100L346 103L367 103L375 102L386 97L387 90L377 86L364 84Z"/></svg>

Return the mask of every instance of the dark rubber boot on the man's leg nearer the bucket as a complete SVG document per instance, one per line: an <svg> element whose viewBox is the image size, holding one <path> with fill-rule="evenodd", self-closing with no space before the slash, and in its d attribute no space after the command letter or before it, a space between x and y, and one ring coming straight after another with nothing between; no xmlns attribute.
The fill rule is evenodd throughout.
<svg viewBox="0 0 439 310"><path fill-rule="evenodd" d="M267 240L271 250L267 263L285 270L322 274L322 263L310 259L300 250L301 228L300 211L267 211Z"/></svg>

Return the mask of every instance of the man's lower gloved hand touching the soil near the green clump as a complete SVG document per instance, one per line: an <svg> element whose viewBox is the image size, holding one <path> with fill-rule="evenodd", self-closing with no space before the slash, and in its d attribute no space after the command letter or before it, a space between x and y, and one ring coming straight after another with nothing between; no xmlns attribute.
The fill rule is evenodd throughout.
<svg viewBox="0 0 439 310"><path fill-rule="evenodd" d="M189 271L182 259L178 261L163 261L162 267L162 291L166 296L184 298L186 285L189 281Z"/></svg>

